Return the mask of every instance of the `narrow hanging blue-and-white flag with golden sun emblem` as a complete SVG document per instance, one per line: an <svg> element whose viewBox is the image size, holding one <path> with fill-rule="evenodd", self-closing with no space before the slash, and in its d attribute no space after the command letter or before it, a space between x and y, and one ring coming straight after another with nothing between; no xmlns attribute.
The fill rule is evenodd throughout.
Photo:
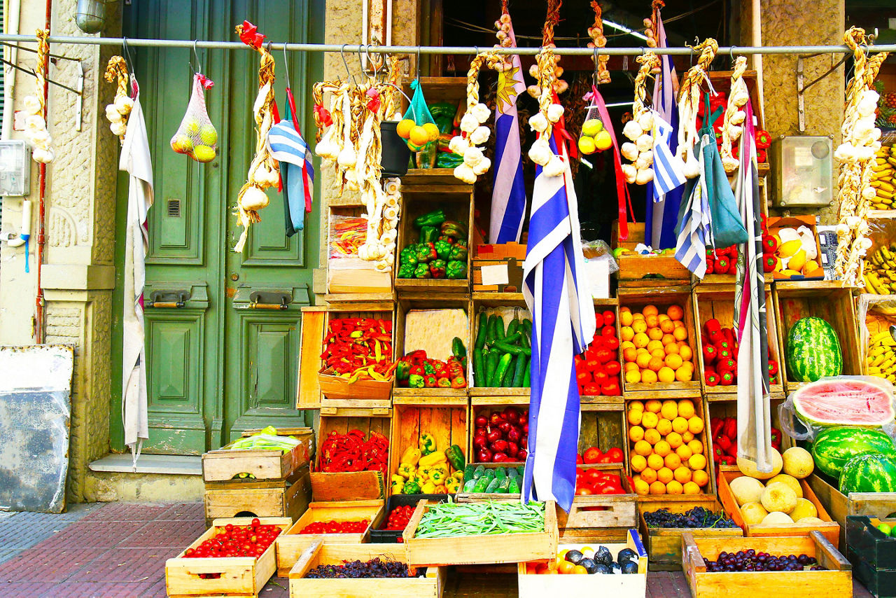
<svg viewBox="0 0 896 598"><path fill-rule="evenodd" d="M508 26L511 47L516 48L513 25L508 22ZM520 56L514 54L511 56L511 67L498 74L495 185L492 188L492 211L488 225L489 243L519 242L522 233L522 221L526 215L526 186L522 178L522 145L516 98L525 90Z"/></svg>

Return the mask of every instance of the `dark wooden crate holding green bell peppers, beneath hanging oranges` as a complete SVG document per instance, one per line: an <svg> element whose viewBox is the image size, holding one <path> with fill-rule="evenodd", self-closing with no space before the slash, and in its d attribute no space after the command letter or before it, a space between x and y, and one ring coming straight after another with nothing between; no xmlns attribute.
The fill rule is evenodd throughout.
<svg viewBox="0 0 896 598"><path fill-rule="evenodd" d="M471 233L473 231L473 186L466 185L453 176L444 177L441 169L414 169L401 178L401 219L398 223L398 239L395 247L395 267L399 267L401 249L418 243L419 230L414 220L428 212L443 210L449 221L467 225L467 278L462 280L394 278L399 297L411 295L429 296L430 293L470 293L472 271ZM449 173L450 174L450 173Z"/></svg>

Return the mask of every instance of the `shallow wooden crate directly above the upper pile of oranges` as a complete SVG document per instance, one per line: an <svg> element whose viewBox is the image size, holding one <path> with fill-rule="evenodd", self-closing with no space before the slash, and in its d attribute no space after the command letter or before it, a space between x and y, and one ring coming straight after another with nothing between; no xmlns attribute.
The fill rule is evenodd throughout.
<svg viewBox="0 0 896 598"><path fill-rule="evenodd" d="M628 238L619 238L619 221L613 221L612 247L634 250L644 242L644 224L628 223ZM663 255L640 256L637 254L622 255L616 258L619 271L620 288L655 289L658 287L676 286L691 283L691 271L676 260L675 252Z"/></svg>

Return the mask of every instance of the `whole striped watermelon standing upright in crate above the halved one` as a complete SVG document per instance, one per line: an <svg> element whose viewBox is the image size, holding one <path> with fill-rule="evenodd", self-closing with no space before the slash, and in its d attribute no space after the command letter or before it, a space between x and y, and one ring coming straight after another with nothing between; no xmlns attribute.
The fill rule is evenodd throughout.
<svg viewBox="0 0 896 598"><path fill-rule="evenodd" d="M822 377L840 376L843 371L840 339L820 317L804 317L790 326L786 347L791 380L814 382Z"/></svg>

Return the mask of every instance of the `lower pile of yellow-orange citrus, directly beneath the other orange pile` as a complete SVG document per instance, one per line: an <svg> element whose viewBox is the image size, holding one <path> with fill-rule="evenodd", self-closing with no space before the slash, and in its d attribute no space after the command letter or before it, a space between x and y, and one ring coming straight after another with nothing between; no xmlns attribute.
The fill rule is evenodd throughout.
<svg viewBox="0 0 896 598"><path fill-rule="evenodd" d="M710 481L705 446L697 438L702 417L694 401L632 401L627 413L634 490L648 494L700 494Z"/></svg>

